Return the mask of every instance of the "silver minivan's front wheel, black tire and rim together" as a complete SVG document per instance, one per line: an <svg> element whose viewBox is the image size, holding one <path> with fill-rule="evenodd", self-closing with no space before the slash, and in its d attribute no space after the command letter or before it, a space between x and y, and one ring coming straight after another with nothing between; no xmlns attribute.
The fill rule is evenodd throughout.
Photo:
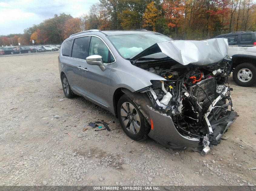
<svg viewBox="0 0 256 191"><path fill-rule="evenodd" d="M150 126L138 107L127 95L120 97L117 104L117 114L119 122L128 137L135 141L147 137Z"/></svg>

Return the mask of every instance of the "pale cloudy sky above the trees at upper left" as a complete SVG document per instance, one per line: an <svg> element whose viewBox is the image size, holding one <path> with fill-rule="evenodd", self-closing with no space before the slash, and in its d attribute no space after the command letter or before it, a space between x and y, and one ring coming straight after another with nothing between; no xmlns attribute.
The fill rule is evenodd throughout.
<svg viewBox="0 0 256 191"><path fill-rule="evenodd" d="M98 0L0 0L0 35L23 33L54 14L79 17Z"/></svg>

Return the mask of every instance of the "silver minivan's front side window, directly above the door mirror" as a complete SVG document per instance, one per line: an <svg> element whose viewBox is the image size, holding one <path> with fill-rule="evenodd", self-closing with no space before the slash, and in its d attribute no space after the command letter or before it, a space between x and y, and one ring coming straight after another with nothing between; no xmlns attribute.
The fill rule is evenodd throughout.
<svg viewBox="0 0 256 191"><path fill-rule="evenodd" d="M111 63L111 59L109 59L109 55L111 54L108 50L108 47L99 38L91 37L89 56L95 54L102 56L103 63Z"/></svg>

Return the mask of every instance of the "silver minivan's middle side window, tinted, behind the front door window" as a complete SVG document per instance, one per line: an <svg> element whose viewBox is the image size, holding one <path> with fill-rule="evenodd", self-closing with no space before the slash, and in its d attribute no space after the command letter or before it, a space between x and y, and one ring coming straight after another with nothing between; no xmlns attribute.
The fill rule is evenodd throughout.
<svg viewBox="0 0 256 191"><path fill-rule="evenodd" d="M88 57L90 37L76 38L72 49L72 58L85 60Z"/></svg>

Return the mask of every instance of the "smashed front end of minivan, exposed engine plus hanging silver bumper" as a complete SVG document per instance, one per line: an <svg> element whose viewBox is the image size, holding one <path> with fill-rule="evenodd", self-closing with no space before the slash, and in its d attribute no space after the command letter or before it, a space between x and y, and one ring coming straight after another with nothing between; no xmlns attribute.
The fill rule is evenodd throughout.
<svg viewBox="0 0 256 191"><path fill-rule="evenodd" d="M216 57L220 59L224 51ZM163 49L158 52L166 56ZM151 122L148 136L172 149L197 148L205 156L238 117L228 84L229 60L222 57L202 64L199 59L190 62L186 56L184 63L182 58L178 62L170 55L160 59L158 52L133 62L163 78L140 91L151 100L147 106Z"/></svg>

